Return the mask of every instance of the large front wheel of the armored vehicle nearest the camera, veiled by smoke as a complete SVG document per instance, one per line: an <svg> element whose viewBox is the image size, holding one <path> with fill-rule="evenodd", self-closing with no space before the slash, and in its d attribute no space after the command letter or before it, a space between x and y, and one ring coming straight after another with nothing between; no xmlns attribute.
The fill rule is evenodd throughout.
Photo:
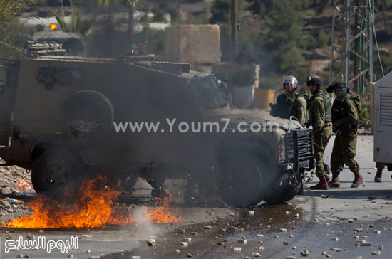
<svg viewBox="0 0 392 259"><path fill-rule="evenodd" d="M264 197L264 174L270 165L264 150L252 147L229 151L218 161L217 192L229 206L247 208ZM235 150L235 151L234 151Z"/></svg>

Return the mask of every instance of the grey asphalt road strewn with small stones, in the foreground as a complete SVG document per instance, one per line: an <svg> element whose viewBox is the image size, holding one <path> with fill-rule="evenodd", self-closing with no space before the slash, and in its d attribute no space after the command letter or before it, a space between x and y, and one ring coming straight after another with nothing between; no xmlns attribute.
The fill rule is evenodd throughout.
<svg viewBox="0 0 392 259"><path fill-rule="evenodd" d="M326 149L327 163L333 141L334 137ZM253 216L245 209L180 207L183 223L138 221L129 226L43 232L14 229L13 233L2 228L0 258L21 254L29 258L302 258L302 250L309 251L307 258L392 258L391 172L385 169L383 182L373 182L373 136L359 136L356 160L365 179L364 186L358 189L350 188L354 175L345 168L340 177L341 188L305 188L304 195L296 196L290 203L252 208ZM311 184L316 181L305 186ZM182 186L181 181L175 184L175 188ZM146 187L143 191L149 190ZM141 203L133 208L133 213L143 217L146 208ZM178 229L185 232L178 233ZM354 233L354 229L359 231ZM71 236L78 236L78 248L68 253L58 249L51 253L43 249L5 253L7 237L26 240L29 235L45 236L46 240L71 240ZM149 238L155 239L155 245L146 244ZM187 246L181 244L184 238L191 238ZM357 240L371 245L358 246ZM371 255L373 252L381 255Z"/></svg>

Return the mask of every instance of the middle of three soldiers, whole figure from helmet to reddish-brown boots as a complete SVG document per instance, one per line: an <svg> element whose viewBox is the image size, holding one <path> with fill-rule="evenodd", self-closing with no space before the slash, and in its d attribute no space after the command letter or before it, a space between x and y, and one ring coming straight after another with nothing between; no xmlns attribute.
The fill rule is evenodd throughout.
<svg viewBox="0 0 392 259"><path fill-rule="evenodd" d="M324 169L324 150L332 135L331 98L321 90L321 78L312 75L306 78L311 94L309 120L314 134L314 159L316 159L316 176L319 184L311 186L311 190L327 190L328 181Z"/></svg>

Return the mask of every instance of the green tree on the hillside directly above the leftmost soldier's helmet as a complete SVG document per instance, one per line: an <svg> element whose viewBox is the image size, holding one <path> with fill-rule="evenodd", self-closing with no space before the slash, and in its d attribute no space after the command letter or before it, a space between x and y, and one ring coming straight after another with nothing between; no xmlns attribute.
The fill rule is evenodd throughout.
<svg viewBox="0 0 392 259"><path fill-rule="evenodd" d="M259 38L264 69L284 72L303 60L301 1L274 0Z"/></svg>

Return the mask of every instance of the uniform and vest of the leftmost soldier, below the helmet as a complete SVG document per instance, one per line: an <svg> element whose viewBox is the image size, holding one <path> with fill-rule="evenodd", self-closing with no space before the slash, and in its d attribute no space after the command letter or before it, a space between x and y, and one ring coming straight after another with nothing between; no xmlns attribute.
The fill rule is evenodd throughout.
<svg viewBox="0 0 392 259"><path fill-rule="evenodd" d="M273 116L279 116L284 119L295 116L303 125L308 121L306 99L298 93L294 93L292 97L282 93L282 95L277 97L277 104L274 109L276 109L276 112L271 113Z"/></svg>

